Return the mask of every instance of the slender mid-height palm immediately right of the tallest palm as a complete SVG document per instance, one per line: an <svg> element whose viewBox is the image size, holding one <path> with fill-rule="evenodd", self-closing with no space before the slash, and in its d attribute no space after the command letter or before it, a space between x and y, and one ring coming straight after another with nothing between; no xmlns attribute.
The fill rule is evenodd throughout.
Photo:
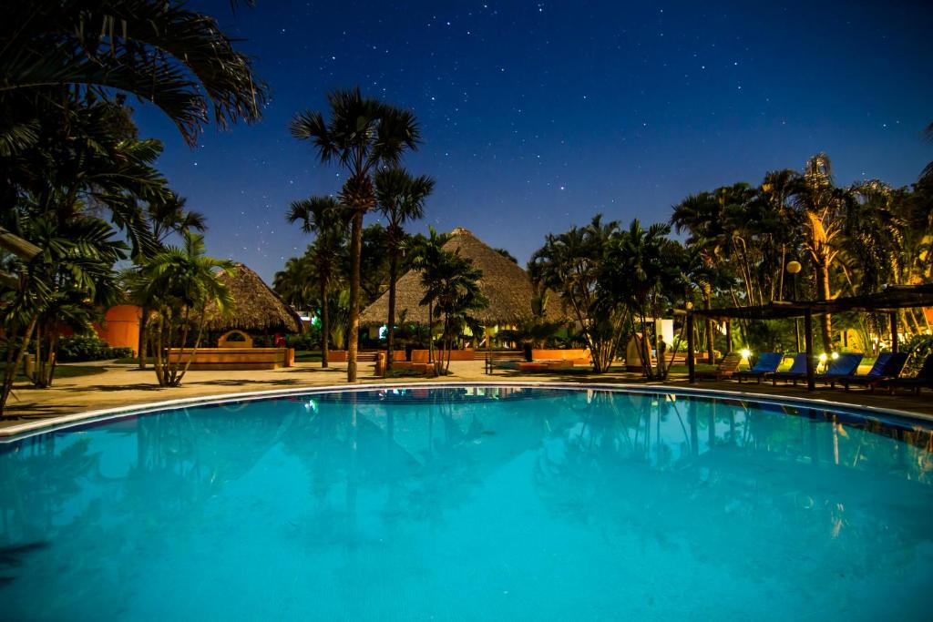
<svg viewBox="0 0 933 622"><path fill-rule="evenodd" d="M386 335L386 370L392 369L396 333L396 280L398 259L406 241L405 223L425 215L425 199L434 190L434 180L425 175L412 177L405 169L383 169L376 173L376 200L379 211L389 221L385 228L389 253L389 317Z"/></svg>

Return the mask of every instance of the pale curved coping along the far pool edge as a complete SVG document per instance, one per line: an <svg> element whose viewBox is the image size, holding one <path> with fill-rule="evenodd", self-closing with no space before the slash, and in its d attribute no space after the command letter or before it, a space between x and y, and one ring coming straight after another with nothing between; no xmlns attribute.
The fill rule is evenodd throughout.
<svg viewBox="0 0 933 622"><path fill-rule="evenodd" d="M933 423L933 415L911 410L897 408L878 408L835 402L827 399L814 399L797 396L778 396L773 394L759 394L745 391L726 391L721 389L703 389L700 387L682 387L668 384L630 384L608 382L552 382L547 380L467 380L467 381L433 381L433 382L376 382L366 384L331 384L325 386L294 387L290 389L264 389L261 391L244 391L232 394L210 394L194 397L179 397L177 399L160 400L158 402L145 402L130 406L116 408L101 408L85 410L52 417L35 422L26 422L0 428L0 444L6 444L24 437L43 434L54 429L64 429L73 425L87 422L99 422L122 417L143 415L157 410L174 410L196 406L210 406L233 401L255 401L272 399L295 394L325 394L355 391L373 391L379 389L408 389L408 388L443 388L443 387L508 387L508 388L557 388L576 389L578 391L621 391L639 394L694 394L704 397L723 397L728 399L747 399L759 403L775 404L779 406L801 406L806 408L825 408L840 410L849 414L873 415L879 418L898 418L908 421L921 421Z"/></svg>

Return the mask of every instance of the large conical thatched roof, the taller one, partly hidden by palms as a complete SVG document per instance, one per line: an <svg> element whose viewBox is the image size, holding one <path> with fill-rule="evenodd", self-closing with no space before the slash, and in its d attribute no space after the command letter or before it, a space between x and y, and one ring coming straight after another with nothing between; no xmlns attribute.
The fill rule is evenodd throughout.
<svg viewBox="0 0 933 622"><path fill-rule="evenodd" d="M480 290L489 299L489 307L478 313L481 324L514 324L531 314L534 289L528 275L520 266L496 253L465 228L451 231L453 238L444 244L445 251L456 251L473 260L473 265L482 270ZM421 286L421 272L409 270L396 283L396 313L408 310L408 322L428 323L427 306L420 306L425 290ZM560 305L551 296L548 317L563 317ZM385 324L389 315L389 293L385 292L360 314L361 324Z"/></svg>

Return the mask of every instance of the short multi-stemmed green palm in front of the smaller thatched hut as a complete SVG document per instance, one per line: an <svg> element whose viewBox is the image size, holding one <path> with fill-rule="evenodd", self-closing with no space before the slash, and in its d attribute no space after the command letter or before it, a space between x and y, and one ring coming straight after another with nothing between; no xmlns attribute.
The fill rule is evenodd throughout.
<svg viewBox="0 0 933 622"><path fill-rule="evenodd" d="M132 278L141 297L152 301L149 340L160 386L176 387L188 372L204 332L204 309L214 303L222 313L232 311L230 290L217 279L218 271L230 273L233 262L204 255L199 233L182 234L182 246L165 246ZM172 347L185 348L193 332L194 346L182 366L167 355Z"/></svg>

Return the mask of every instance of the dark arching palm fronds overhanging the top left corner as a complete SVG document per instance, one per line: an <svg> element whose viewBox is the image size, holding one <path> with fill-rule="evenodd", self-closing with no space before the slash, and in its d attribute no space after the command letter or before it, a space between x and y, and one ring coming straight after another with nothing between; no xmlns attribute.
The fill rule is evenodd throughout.
<svg viewBox="0 0 933 622"><path fill-rule="evenodd" d="M218 127L261 117L267 87L216 20L179 0L11 2L0 26L0 133L31 140L23 114L63 90L116 90L159 107L188 145ZM14 114L15 111L15 114Z"/></svg>

